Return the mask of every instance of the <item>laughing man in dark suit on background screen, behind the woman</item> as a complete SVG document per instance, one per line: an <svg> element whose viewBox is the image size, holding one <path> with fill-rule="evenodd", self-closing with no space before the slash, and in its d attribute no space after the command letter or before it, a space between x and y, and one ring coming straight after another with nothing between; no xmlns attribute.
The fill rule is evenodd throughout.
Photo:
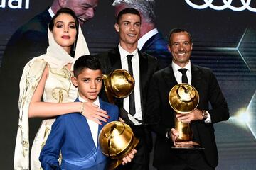
<svg viewBox="0 0 256 170"><path fill-rule="evenodd" d="M1 147L7 149L8 153L14 152L18 120L18 84L23 67L33 57L46 53L50 19L58 9L68 7L75 11L80 24L83 24L93 18L97 4L98 0L53 0L50 8L33 17L11 36L4 50L0 68L0 111L4 113L1 118L3 122L8 123L0 128L3 131L1 134L8 134L5 140L1 140ZM40 122L40 119L30 122L31 141ZM1 165L2 168L9 169L12 166L12 156L13 154L7 155L6 162Z"/></svg>

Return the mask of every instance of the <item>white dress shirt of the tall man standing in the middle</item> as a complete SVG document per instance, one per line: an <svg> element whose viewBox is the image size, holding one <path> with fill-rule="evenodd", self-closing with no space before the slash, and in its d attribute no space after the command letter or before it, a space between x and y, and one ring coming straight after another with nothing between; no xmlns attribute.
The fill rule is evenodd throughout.
<svg viewBox="0 0 256 170"><path fill-rule="evenodd" d="M134 52L129 53L126 50L124 50L121 45L118 45L120 57L121 57L121 64L122 69L126 69L128 71L128 62L127 62L127 55L133 55L132 57L132 73L135 80L135 86L134 86L134 100L135 100L135 114L134 118L137 118L138 120L142 120L142 106L141 106L141 96L140 96L140 89L139 89L139 54L138 49L134 50ZM124 109L129 113L129 96L124 98ZM132 119L131 115L128 115L130 120L135 125L138 125L139 123Z"/></svg>

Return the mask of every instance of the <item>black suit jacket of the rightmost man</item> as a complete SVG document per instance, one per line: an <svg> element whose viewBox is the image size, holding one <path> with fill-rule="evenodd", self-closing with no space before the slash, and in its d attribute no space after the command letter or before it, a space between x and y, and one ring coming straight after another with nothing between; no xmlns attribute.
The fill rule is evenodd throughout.
<svg viewBox="0 0 256 170"><path fill-rule="evenodd" d="M192 83L199 94L198 109L210 113L212 123L203 120L192 121L198 130L201 146L204 147L206 161L212 167L218 165L218 151L215 143L213 123L228 120L229 112L225 98L220 90L218 81L210 69L191 64ZM175 149L172 143L166 140L166 132L174 128L174 110L169 105L169 91L177 84L171 67L156 72L150 83L149 98L145 121L155 124L151 128L156 132L154 148L154 166L175 164ZM209 108L209 103L212 108Z"/></svg>

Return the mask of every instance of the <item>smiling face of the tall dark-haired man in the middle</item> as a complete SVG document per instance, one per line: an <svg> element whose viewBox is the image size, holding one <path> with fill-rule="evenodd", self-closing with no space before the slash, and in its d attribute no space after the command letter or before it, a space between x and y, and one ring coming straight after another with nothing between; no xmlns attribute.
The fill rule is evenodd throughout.
<svg viewBox="0 0 256 170"><path fill-rule="evenodd" d="M137 45L141 28L140 17L127 13L121 16L119 23L114 25L114 28L119 33L120 44Z"/></svg>

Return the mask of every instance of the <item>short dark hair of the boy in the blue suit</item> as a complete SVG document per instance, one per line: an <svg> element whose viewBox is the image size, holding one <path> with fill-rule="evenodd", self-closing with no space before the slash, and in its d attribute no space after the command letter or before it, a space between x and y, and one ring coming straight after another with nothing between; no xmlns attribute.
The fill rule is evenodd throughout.
<svg viewBox="0 0 256 170"><path fill-rule="evenodd" d="M94 55L82 55L75 61L74 76L78 77L83 69L101 70L100 60L98 60Z"/></svg>

